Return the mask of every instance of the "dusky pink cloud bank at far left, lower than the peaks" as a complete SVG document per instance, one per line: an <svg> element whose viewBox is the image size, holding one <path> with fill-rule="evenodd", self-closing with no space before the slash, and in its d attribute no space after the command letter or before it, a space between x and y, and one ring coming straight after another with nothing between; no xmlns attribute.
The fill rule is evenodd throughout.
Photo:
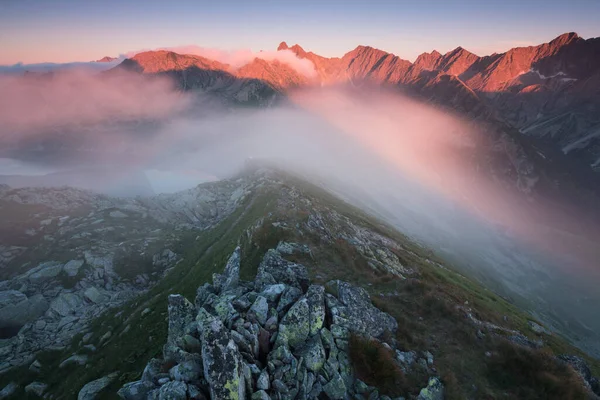
<svg viewBox="0 0 600 400"><path fill-rule="evenodd" d="M0 140L115 122L160 120L184 110L189 97L166 78L70 69L0 77Z"/></svg>

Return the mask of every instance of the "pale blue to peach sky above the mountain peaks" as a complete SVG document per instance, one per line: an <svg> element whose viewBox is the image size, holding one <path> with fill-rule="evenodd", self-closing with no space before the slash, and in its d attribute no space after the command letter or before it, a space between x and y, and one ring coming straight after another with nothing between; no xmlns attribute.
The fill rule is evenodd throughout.
<svg viewBox="0 0 600 400"><path fill-rule="evenodd" d="M0 65L91 61L198 45L324 56L370 45L414 60L462 46L478 55L600 36L600 0L0 0Z"/></svg>

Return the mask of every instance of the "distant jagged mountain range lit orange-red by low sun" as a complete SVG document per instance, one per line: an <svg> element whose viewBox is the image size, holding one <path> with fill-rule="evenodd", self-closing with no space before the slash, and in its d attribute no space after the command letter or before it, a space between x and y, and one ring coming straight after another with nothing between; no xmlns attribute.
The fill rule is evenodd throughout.
<svg viewBox="0 0 600 400"><path fill-rule="evenodd" d="M282 42L313 63L315 76L292 66L255 58L231 65L195 55L148 51L123 61L117 69L162 73L180 88L233 92L240 101L268 104L304 86L383 84L421 100L483 121L502 124L523 136L542 159L563 159L576 169L600 170L600 38L565 33L548 43L517 47L480 57L456 49L423 53L415 62L369 46L327 58ZM521 139L519 139L521 140Z"/></svg>

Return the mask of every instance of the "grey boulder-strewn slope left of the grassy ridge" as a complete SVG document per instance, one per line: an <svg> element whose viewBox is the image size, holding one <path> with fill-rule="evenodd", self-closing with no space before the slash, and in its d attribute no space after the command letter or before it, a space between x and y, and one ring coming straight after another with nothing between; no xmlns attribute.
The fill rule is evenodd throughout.
<svg viewBox="0 0 600 400"><path fill-rule="evenodd" d="M31 364L40 350L64 349L99 315L145 293L181 260L172 248L182 237L228 216L256 184L137 199L2 187L0 373ZM27 218L11 223L15 210Z"/></svg>

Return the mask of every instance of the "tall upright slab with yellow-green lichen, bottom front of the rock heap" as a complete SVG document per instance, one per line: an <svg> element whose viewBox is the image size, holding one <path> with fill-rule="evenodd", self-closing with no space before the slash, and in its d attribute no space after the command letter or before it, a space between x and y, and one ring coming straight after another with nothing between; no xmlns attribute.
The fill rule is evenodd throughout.
<svg viewBox="0 0 600 400"><path fill-rule="evenodd" d="M202 330L202 361L211 398L245 398L241 355L227 328L216 318Z"/></svg>

